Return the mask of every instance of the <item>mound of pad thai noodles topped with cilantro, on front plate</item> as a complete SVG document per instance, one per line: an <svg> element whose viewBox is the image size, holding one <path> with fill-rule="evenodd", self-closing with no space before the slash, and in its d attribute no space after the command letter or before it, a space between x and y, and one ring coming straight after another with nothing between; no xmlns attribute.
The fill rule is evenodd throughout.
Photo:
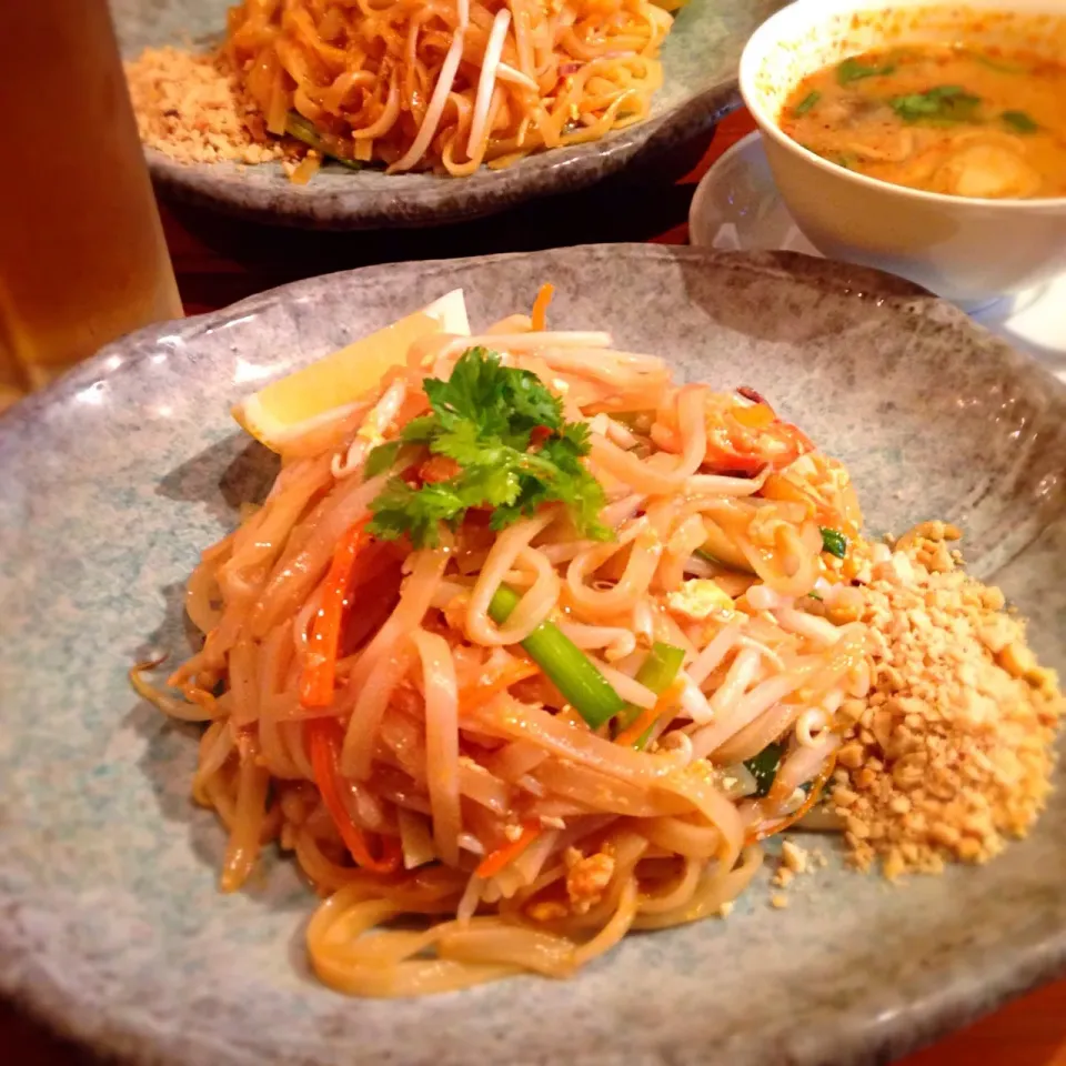
<svg viewBox="0 0 1066 1066"><path fill-rule="evenodd" d="M205 725L222 887L294 852L344 992L563 977L720 913L871 685L844 466L750 389L546 329L546 296L291 440L190 581L182 698L134 671Z"/></svg>

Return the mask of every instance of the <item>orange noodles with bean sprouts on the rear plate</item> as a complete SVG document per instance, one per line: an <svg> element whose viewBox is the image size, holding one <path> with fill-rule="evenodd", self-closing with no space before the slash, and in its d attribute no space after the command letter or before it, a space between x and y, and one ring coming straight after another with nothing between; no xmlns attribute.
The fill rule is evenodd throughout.
<svg viewBox="0 0 1066 1066"><path fill-rule="evenodd" d="M650 0L244 0L224 52L270 133L459 177L645 118L671 22Z"/></svg>

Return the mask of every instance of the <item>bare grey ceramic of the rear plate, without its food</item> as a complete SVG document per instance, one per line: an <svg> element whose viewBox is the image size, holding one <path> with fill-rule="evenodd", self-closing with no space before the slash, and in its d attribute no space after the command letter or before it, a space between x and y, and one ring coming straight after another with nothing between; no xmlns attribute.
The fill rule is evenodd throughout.
<svg viewBox="0 0 1066 1066"><path fill-rule="evenodd" d="M227 0L110 0L123 54L149 44L209 41L225 23ZM276 163L183 165L149 151L169 193L259 221L318 229L429 225L491 214L553 192L590 185L637 157L646 159L710 129L740 103L736 64L752 31L784 0L691 0L663 47L664 84L651 118L592 144L545 152L470 178L385 177L328 167L293 185Z"/></svg>

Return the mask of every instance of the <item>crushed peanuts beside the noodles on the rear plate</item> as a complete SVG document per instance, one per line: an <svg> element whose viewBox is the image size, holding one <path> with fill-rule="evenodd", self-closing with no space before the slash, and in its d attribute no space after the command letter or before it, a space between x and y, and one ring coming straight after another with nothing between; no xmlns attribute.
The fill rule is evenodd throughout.
<svg viewBox="0 0 1066 1066"><path fill-rule="evenodd" d="M266 132L221 51L149 48L125 64L125 79L141 141L179 162L294 165L304 154L296 142Z"/></svg>

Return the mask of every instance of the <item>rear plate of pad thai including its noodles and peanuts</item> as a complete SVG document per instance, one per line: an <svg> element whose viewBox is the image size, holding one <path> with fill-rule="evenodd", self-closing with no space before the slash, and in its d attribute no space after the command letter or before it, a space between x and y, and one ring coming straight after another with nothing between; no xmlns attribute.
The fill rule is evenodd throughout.
<svg viewBox="0 0 1066 1066"><path fill-rule="evenodd" d="M726 0L113 6L153 177L320 228L489 214L705 132L780 7Z"/></svg>

